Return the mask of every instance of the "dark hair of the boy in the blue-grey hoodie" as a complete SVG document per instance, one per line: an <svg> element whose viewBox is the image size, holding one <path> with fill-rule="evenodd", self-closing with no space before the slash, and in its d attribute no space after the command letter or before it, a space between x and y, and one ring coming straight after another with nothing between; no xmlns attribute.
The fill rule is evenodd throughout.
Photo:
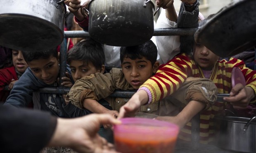
<svg viewBox="0 0 256 153"><path fill-rule="evenodd" d="M57 49L49 49L45 51L21 51L23 54L24 60L28 63L32 60L38 60L40 58L48 59L50 56L53 56L58 59Z"/></svg>

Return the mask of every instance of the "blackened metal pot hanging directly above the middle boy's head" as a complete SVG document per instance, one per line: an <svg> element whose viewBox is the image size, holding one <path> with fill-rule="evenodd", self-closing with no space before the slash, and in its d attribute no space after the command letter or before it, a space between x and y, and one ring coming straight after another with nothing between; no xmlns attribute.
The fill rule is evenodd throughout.
<svg viewBox="0 0 256 153"><path fill-rule="evenodd" d="M89 29L92 39L110 46L135 46L154 33L151 0L91 0Z"/></svg>

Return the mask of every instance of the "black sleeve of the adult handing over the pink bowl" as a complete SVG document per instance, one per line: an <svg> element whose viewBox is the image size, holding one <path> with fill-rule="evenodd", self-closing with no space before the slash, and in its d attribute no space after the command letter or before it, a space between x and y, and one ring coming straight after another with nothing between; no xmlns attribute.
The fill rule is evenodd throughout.
<svg viewBox="0 0 256 153"><path fill-rule="evenodd" d="M55 131L57 119L49 113L0 105L2 153L38 153Z"/></svg>

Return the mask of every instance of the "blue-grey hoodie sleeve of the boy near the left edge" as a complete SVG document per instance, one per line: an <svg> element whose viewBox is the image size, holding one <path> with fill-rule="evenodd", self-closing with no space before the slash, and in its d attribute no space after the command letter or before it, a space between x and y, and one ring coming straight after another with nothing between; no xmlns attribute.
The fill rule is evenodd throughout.
<svg viewBox="0 0 256 153"><path fill-rule="evenodd" d="M19 78L19 81L14 83L14 86L7 97L5 104L10 104L15 107L26 107L32 101L33 91L45 86L43 81L40 81L34 76L30 68Z"/></svg>

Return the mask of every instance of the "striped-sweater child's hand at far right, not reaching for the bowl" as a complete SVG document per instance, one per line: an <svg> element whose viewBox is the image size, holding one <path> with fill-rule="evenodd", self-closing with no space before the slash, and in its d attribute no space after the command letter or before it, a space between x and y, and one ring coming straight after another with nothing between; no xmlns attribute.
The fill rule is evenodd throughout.
<svg viewBox="0 0 256 153"><path fill-rule="evenodd" d="M255 93L251 87L244 87L241 83L238 83L231 89L230 97L224 97L223 100L230 102L234 108L245 109L254 98Z"/></svg>

